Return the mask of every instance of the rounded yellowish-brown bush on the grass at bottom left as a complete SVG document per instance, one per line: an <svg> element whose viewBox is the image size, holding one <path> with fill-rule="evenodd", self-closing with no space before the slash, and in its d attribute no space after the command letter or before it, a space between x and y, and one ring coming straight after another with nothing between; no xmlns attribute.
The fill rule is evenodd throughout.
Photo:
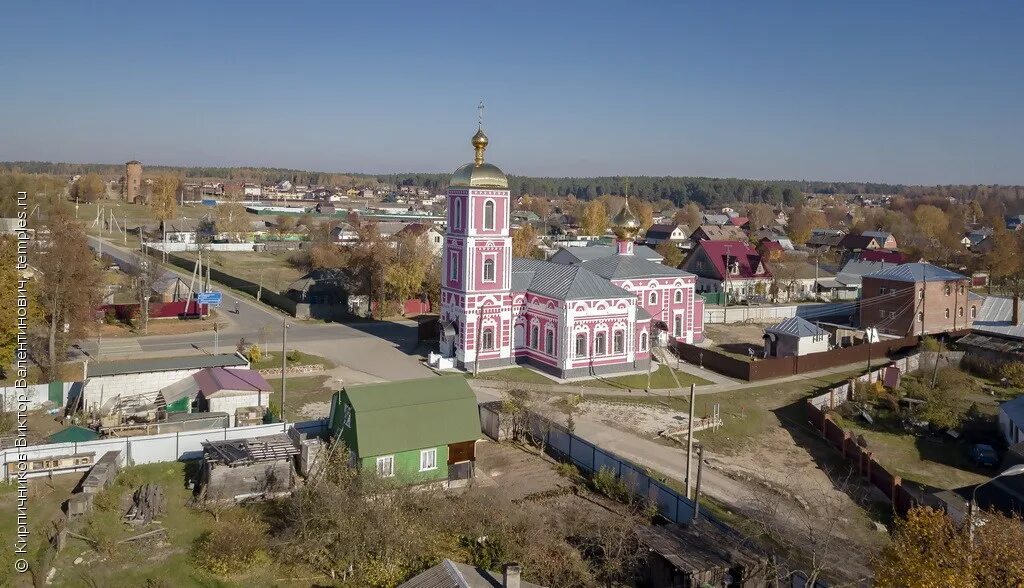
<svg viewBox="0 0 1024 588"><path fill-rule="evenodd" d="M267 531L267 524L256 515L234 509L196 539L193 557L201 568L218 576L248 571L268 560Z"/></svg>

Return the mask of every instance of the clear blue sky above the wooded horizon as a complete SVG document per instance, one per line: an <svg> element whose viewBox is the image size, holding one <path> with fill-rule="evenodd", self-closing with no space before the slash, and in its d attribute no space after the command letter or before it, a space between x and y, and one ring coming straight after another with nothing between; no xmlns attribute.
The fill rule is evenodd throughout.
<svg viewBox="0 0 1024 588"><path fill-rule="evenodd" d="M1019 0L3 14L0 160L1024 183Z"/></svg>

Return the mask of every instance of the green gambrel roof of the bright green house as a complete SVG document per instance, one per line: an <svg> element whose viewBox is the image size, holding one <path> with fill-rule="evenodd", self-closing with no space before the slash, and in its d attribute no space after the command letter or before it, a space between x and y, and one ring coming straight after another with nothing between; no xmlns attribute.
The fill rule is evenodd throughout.
<svg viewBox="0 0 1024 588"><path fill-rule="evenodd" d="M355 413L355 452L388 455L480 437L476 394L462 375L347 386L334 397L347 398Z"/></svg>

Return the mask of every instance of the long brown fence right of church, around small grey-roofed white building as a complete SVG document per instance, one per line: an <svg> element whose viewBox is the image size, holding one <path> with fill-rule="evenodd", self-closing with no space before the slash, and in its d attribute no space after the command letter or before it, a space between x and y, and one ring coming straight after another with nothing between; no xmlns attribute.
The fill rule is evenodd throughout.
<svg viewBox="0 0 1024 588"><path fill-rule="evenodd" d="M680 358L691 364L708 368L730 378L756 382L806 374L858 362L866 363L869 356L872 362L882 363L888 361L893 354L915 347L918 342L916 336L910 336L887 339L878 343L840 347L819 353L770 358L753 362L734 358L710 347L698 347L688 343L677 342L674 347Z"/></svg>

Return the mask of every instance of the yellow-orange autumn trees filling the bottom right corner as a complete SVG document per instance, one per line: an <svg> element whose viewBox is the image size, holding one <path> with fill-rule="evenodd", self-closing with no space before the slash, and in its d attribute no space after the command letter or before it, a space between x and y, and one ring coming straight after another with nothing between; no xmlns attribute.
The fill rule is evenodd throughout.
<svg viewBox="0 0 1024 588"><path fill-rule="evenodd" d="M910 509L897 520L893 541L874 560L882 587L1024 585L1024 524L1019 517L985 511L974 541L968 530L930 507Z"/></svg>

